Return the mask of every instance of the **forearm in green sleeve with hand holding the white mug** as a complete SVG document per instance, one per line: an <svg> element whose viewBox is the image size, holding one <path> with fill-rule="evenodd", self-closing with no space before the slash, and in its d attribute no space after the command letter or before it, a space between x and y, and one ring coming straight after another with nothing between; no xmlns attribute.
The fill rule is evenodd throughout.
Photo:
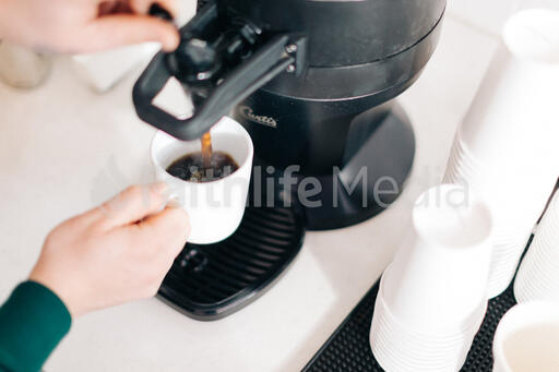
<svg viewBox="0 0 559 372"><path fill-rule="evenodd" d="M0 308L0 371L37 371L72 319L157 292L189 235L165 190L129 188L50 232L29 281Z"/></svg>

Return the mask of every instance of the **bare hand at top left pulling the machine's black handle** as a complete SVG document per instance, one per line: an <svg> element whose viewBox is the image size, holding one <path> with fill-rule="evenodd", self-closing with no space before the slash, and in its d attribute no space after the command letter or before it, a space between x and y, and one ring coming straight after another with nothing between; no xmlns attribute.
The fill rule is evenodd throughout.
<svg viewBox="0 0 559 372"><path fill-rule="evenodd" d="M0 39L74 53L159 41L170 51L179 44L177 28L147 12L157 3L175 14L177 1L0 0Z"/></svg>

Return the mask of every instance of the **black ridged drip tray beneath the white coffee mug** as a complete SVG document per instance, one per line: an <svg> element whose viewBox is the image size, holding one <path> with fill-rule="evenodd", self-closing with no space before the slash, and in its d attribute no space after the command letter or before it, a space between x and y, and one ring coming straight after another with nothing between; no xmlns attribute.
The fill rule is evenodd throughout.
<svg viewBox="0 0 559 372"><path fill-rule="evenodd" d="M276 283L299 252L304 236L302 213L296 207L248 206L228 239L185 247L158 297L195 320L223 319Z"/></svg>

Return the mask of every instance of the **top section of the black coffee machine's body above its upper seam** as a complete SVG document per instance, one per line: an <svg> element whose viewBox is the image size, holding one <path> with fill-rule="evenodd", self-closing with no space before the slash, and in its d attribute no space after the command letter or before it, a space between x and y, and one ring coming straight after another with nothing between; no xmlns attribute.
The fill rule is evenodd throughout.
<svg viewBox="0 0 559 372"><path fill-rule="evenodd" d="M379 61L411 48L437 26L445 0L217 0L222 14L267 31L309 37L308 64Z"/></svg>

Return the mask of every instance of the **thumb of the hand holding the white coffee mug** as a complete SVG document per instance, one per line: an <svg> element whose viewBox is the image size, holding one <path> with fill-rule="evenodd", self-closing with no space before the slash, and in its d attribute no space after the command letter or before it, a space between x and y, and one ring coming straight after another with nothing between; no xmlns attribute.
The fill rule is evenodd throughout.
<svg viewBox="0 0 559 372"><path fill-rule="evenodd" d="M102 220L105 228L135 224L163 209L167 202L167 185L133 185L122 191L112 200L103 204L93 213Z"/></svg>

